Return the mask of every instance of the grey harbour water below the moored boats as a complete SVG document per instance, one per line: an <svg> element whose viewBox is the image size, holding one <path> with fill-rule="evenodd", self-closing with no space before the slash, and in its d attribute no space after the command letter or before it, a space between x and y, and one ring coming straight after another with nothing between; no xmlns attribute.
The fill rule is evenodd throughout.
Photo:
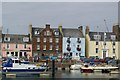
<svg viewBox="0 0 120 80"><path fill-rule="evenodd" d="M16 78L5 78L3 76L2 80L120 80L120 74L109 74L109 73L81 73L79 70L71 70L71 71L62 71L58 70L55 73L55 77L52 78L50 76L19 76Z"/></svg>

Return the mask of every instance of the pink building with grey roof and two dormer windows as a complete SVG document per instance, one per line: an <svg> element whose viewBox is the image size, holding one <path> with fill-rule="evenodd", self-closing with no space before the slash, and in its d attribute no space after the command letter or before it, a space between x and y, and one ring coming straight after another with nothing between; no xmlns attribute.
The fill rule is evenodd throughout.
<svg viewBox="0 0 120 80"><path fill-rule="evenodd" d="M32 57L32 44L29 35L2 34L2 57L9 54L18 58Z"/></svg>

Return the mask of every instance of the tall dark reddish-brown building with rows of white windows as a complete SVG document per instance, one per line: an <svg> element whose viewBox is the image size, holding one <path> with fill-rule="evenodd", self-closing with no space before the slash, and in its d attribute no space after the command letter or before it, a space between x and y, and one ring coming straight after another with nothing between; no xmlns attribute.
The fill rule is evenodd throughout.
<svg viewBox="0 0 120 80"><path fill-rule="evenodd" d="M45 28L29 25L32 40L33 57L52 57L62 54L62 34L59 28L51 28L46 24Z"/></svg>

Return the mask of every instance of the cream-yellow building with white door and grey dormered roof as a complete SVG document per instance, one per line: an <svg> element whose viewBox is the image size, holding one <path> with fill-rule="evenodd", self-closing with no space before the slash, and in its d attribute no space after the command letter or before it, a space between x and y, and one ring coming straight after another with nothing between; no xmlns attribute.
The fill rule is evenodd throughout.
<svg viewBox="0 0 120 80"><path fill-rule="evenodd" d="M119 58L119 41L113 32L90 32L86 27L86 57Z"/></svg>

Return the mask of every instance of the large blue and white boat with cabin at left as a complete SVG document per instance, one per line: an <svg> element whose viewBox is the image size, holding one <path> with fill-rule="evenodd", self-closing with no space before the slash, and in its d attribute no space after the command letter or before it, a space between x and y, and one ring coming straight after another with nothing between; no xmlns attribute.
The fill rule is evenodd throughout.
<svg viewBox="0 0 120 80"><path fill-rule="evenodd" d="M3 72L43 72L46 70L46 66L21 63L19 58L8 58L2 69Z"/></svg>

